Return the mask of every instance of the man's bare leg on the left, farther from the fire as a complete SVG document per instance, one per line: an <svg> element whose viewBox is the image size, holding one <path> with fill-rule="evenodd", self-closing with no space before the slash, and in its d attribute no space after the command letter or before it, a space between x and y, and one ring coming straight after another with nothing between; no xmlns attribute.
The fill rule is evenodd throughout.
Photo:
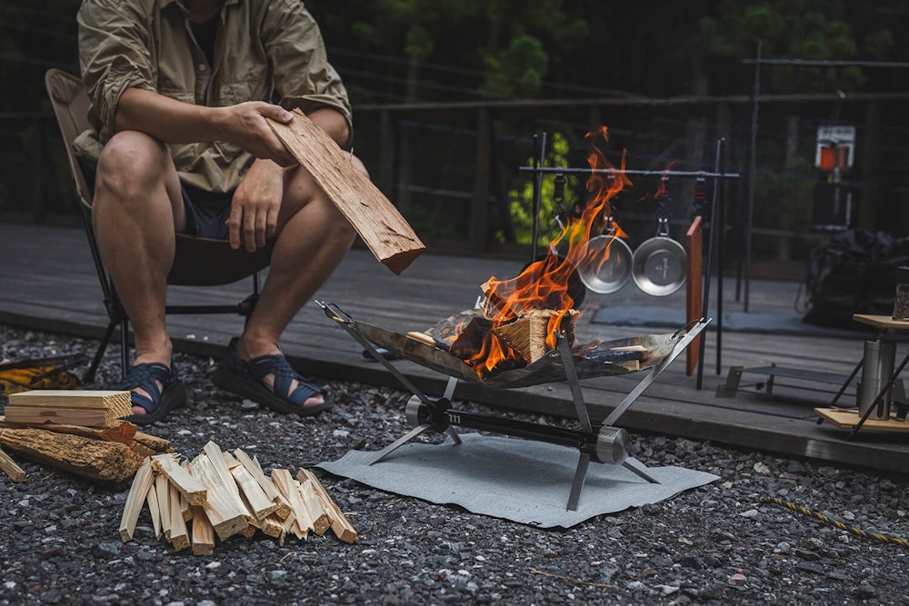
<svg viewBox="0 0 909 606"><path fill-rule="evenodd" d="M92 220L101 256L133 325L135 363L170 366L167 274L174 263L175 231L185 230L186 218L164 144L135 131L114 135L98 162ZM134 407L133 412L145 411Z"/></svg>

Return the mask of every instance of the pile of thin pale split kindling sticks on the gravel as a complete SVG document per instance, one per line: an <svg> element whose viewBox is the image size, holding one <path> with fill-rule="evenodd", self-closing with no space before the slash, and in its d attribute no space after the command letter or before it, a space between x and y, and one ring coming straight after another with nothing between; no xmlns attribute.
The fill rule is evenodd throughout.
<svg viewBox="0 0 909 606"><path fill-rule="evenodd" d="M155 538L175 551L192 549L212 555L215 537L256 532L284 545L288 535L305 540L309 533L331 529L338 539L357 541L354 527L313 472L296 478L285 469L266 475L258 460L241 449L225 452L208 442L192 461L175 454L148 457L135 474L120 522L120 538L130 541L143 506L152 518ZM188 524L188 525L187 525Z"/></svg>

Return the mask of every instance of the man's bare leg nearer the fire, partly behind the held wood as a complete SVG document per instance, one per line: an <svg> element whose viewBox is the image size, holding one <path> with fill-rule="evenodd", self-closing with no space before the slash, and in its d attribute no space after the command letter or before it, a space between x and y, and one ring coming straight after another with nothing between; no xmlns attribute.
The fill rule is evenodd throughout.
<svg viewBox="0 0 909 606"><path fill-rule="evenodd" d="M365 174L363 164L354 160ZM237 343L237 353L245 360L280 353L278 341L287 324L344 260L356 235L305 169L289 174L268 279ZM273 376L265 382L274 390ZM305 405L323 400L318 394Z"/></svg>

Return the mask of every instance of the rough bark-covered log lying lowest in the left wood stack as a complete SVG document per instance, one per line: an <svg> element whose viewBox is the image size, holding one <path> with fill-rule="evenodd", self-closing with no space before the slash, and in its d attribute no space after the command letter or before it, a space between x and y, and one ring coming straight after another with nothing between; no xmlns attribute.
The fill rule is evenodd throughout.
<svg viewBox="0 0 909 606"><path fill-rule="evenodd" d="M42 429L0 429L0 446L95 482L126 482L143 462L119 442Z"/></svg>

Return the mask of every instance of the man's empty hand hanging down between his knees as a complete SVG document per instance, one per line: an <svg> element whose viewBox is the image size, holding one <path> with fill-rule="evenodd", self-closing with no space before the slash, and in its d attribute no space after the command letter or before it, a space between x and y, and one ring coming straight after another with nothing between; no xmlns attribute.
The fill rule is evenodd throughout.
<svg viewBox="0 0 909 606"><path fill-rule="evenodd" d="M283 197L284 169L269 160L256 160L237 186L231 203L227 219L231 247L240 248L241 232L250 253L265 246L265 239L275 236Z"/></svg>

